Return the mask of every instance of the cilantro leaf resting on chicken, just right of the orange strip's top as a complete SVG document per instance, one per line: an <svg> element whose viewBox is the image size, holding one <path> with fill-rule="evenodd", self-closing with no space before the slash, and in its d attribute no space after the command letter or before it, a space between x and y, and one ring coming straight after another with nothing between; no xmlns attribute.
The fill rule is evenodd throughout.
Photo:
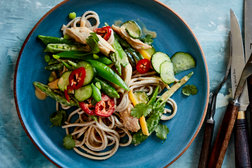
<svg viewBox="0 0 252 168"><path fill-rule="evenodd" d="M142 116L146 117L148 114L150 114L151 111L152 111L151 105L139 103L131 110L131 115L136 118L140 118Z"/></svg>

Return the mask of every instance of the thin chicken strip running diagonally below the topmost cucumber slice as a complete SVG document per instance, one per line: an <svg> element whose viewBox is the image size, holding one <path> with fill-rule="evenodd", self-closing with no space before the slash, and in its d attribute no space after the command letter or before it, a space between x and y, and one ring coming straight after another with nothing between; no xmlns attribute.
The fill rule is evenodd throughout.
<svg viewBox="0 0 252 168"><path fill-rule="evenodd" d="M131 38L128 33L126 32L125 28L118 27L115 25L112 25L112 29L118 33L124 40L126 40L133 48L140 50L140 49L149 49L151 48L150 45L145 44L139 39Z"/></svg>

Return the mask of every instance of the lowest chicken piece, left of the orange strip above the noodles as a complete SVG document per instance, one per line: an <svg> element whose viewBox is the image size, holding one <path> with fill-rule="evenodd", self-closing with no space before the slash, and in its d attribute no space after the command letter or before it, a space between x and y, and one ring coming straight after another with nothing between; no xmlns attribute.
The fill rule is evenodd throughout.
<svg viewBox="0 0 252 168"><path fill-rule="evenodd" d="M138 119L130 115L130 108L120 112L120 118L123 121L123 126L131 132L137 132L140 130Z"/></svg>

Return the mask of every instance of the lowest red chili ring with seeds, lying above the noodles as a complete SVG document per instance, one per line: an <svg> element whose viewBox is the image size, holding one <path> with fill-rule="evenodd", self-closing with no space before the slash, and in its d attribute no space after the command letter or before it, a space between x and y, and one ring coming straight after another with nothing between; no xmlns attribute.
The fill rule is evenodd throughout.
<svg viewBox="0 0 252 168"><path fill-rule="evenodd" d="M102 100L95 105L95 115L101 117L109 117L115 111L115 102L107 95L102 96Z"/></svg>

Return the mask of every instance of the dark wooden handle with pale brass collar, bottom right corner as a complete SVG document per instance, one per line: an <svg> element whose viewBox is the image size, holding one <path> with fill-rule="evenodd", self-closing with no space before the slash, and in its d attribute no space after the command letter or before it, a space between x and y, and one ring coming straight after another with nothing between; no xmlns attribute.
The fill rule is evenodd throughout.
<svg viewBox="0 0 252 168"><path fill-rule="evenodd" d="M237 168L251 168L245 112L239 111L235 124L235 164Z"/></svg>

